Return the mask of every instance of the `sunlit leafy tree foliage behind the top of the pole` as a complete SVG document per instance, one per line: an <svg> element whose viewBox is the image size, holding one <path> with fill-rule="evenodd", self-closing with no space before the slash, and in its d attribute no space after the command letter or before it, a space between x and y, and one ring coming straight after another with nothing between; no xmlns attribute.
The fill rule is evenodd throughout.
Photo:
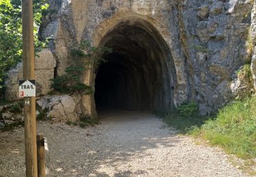
<svg viewBox="0 0 256 177"><path fill-rule="evenodd" d="M35 52L45 46L38 40L38 27L42 13L47 9L46 0L34 0L34 46ZM6 71L14 67L22 57L21 0L0 1L0 85Z"/></svg>

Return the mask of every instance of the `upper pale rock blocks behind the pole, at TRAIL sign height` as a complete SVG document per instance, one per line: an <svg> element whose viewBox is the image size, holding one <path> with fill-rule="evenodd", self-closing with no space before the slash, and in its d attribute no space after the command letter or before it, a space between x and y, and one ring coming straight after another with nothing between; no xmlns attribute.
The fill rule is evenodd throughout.
<svg viewBox="0 0 256 177"><path fill-rule="evenodd" d="M54 78L54 69L56 67L56 60L50 50L42 50L38 52L35 57L35 84L36 95L46 95L51 91L51 78ZM18 80L23 80L23 64L18 65L8 71L5 78L5 98L14 101L20 99L18 97Z"/></svg>

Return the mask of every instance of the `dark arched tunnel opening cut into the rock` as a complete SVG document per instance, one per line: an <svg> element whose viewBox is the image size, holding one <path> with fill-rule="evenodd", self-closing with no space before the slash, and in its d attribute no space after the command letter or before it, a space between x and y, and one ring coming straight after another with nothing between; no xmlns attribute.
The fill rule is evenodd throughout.
<svg viewBox="0 0 256 177"><path fill-rule="evenodd" d="M95 74L96 110L167 110L173 107L175 68L158 31L121 22L102 39L111 48Z"/></svg>

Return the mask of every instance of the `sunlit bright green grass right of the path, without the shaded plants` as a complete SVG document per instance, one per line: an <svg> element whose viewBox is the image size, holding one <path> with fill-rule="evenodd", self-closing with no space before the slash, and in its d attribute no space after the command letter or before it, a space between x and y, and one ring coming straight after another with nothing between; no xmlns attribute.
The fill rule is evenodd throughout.
<svg viewBox="0 0 256 177"><path fill-rule="evenodd" d="M256 157L256 97L236 101L221 109L212 120L194 127L193 135L222 146L241 158Z"/></svg>

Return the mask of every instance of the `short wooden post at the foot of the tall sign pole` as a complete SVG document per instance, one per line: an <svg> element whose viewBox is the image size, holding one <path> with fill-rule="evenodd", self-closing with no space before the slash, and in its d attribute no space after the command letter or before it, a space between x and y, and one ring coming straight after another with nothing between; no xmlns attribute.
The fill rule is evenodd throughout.
<svg viewBox="0 0 256 177"><path fill-rule="evenodd" d="M46 177L44 135L36 137L38 142L38 177Z"/></svg>

